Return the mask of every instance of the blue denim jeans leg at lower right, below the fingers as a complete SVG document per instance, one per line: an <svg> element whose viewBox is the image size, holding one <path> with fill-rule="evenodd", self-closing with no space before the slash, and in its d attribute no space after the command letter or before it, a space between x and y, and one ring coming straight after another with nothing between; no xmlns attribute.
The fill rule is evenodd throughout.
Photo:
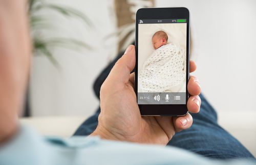
<svg viewBox="0 0 256 165"><path fill-rule="evenodd" d="M236 138L218 125L216 111L203 95L200 98L200 112L191 114L193 125L176 133L168 145L216 159L254 158Z"/></svg>

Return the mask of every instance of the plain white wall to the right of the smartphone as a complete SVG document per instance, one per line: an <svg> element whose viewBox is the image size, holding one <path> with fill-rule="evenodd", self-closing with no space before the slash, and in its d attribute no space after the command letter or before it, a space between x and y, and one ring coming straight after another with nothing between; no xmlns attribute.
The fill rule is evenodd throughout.
<svg viewBox="0 0 256 165"><path fill-rule="evenodd" d="M159 0L156 6L189 9L193 75L217 111L255 111L256 1Z"/></svg>

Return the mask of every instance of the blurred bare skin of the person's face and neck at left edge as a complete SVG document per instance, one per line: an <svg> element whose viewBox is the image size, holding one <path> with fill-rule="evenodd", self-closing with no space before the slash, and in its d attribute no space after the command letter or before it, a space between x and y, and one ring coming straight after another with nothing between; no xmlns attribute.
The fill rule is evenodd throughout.
<svg viewBox="0 0 256 165"><path fill-rule="evenodd" d="M17 130L27 87L31 45L27 1L0 0L0 144Z"/></svg>

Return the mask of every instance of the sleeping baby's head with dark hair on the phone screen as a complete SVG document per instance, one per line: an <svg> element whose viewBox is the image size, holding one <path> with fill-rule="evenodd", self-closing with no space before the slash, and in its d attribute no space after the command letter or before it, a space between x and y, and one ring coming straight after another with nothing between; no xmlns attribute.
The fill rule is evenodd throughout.
<svg viewBox="0 0 256 165"><path fill-rule="evenodd" d="M156 32L152 37L152 44L154 49L160 48L162 45L167 44L168 36L164 31Z"/></svg>

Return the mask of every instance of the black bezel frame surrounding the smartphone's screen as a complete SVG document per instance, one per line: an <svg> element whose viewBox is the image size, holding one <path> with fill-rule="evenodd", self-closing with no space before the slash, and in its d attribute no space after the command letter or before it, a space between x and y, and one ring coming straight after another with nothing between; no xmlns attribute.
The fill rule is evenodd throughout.
<svg viewBox="0 0 256 165"><path fill-rule="evenodd" d="M136 66L135 66L135 92L138 103L138 25L139 19L187 19L187 36L186 36L186 104L139 104L141 115L153 116L181 116L186 115L188 91L187 83L189 80L189 11L187 8L142 8L136 12Z"/></svg>

